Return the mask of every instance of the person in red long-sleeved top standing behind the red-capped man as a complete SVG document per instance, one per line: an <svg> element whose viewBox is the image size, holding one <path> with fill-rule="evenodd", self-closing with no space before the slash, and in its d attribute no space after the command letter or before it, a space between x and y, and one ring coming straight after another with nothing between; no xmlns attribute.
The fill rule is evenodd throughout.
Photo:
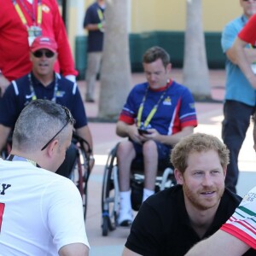
<svg viewBox="0 0 256 256"><path fill-rule="evenodd" d="M55 72L75 81L72 52L56 0L0 0L0 89L29 73L29 47L34 38L55 38L58 61Z"/></svg>

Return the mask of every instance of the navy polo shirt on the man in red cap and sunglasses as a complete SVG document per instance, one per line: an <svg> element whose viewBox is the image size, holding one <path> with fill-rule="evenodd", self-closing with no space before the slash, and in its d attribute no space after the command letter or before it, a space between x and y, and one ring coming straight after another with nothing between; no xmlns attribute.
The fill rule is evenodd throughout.
<svg viewBox="0 0 256 256"><path fill-rule="evenodd" d="M84 103L79 93L77 84L57 74L58 90L56 92L56 103L69 108L76 119L75 129L87 125ZM55 81L45 87L32 74L32 84L38 99L51 100L54 96ZM28 74L20 79L12 81L5 91L0 105L0 124L15 127L20 112L32 101L32 91Z"/></svg>

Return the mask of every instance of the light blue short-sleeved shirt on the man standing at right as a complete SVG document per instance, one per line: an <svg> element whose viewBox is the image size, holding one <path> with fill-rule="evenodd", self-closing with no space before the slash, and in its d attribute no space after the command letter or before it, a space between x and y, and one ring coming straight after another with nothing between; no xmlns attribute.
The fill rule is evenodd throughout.
<svg viewBox="0 0 256 256"><path fill-rule="evenodd" d="M226 53L228 49L233 45L238 32L247 23L247 18L242 15L236 20L230 21L222 32L221 46ZM256 90L249 84L241 69L234 65L228 58L225 63L226 69L226 90L225 100L233 100L236 102L242 102L249 106L256 105Z"/></svg>

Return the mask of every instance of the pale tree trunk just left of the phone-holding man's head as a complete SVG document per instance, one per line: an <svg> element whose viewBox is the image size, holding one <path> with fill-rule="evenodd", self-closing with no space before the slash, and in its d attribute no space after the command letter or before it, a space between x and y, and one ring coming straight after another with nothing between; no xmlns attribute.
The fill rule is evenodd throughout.
<svg viewBox="0 0 256 256"><path fill-rule="evenodd" d="M116 120L131 90L127 1L107 0L99 119Z"/></svg>

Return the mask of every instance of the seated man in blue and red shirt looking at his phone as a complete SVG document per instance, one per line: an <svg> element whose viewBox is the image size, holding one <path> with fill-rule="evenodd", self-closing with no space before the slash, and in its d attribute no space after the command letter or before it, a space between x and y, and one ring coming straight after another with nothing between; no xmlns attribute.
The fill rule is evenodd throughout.
<svg viewBox="0 0 256 256"><path fill-rule="evenodd" d="M130 92L119 116L116 132L129 137L119 143L120 207L118 223L130 225L131 163L143 158L143 201L154 194L158 161L169 157L172 146L182 137L193 133L197 125L195 102L190 91L170 79L172 64L165 49L152 47L143 55L147 82L137 84Z"/></svg>

